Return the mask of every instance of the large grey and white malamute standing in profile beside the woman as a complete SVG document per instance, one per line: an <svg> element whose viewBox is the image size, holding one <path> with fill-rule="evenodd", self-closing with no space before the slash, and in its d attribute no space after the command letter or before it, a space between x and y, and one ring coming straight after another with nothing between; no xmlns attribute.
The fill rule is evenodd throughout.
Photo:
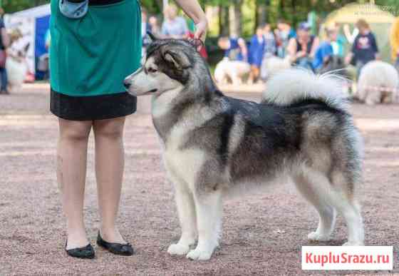
<svg viewBox="0 0 399 276"><path fill-rule="evenodd" d="M318 211L310 240L328 240L341 213L345 245L363 245L354 198L361 137L333 77L289 69L271 78L261 103L243 101L217 90L190 42L156 40L125 87L135 96L152 95L182 227L171 255L209 260L219 245L223 196L287 177Z"/></svg>

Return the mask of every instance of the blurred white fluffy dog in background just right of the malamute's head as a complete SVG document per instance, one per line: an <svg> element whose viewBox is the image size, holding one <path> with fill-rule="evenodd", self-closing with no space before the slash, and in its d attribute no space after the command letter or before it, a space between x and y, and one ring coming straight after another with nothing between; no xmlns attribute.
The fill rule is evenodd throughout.
<svg viewBox="0 0 399 276"><path fill-rule="evenodd" d="M239 85L244 83L244 78L250 71L251 66L245 61L230 61L229 58L223 58L214 69L214 78L219 84L231 81L234 85Z"/></svg>

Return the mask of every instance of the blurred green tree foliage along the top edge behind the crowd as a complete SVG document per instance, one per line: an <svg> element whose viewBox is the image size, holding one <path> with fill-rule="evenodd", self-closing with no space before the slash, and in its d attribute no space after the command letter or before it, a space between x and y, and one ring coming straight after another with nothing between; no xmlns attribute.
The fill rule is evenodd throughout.
<svg viewBox="0 0 399 276"><path fill-rule="evenodd" d="M12 13L46 4L49 0L0 0L0 2L6 13ZM140 0L140 2L150 14L161 14L162 0ZM235 11L239 11L237 16L240 21L238 28L244 36L252 34L259 22L269 22L275 26L278 19L286 19L296 25L299 21L307 19L309 11L316 11L318 16L323 18L331 11L351 2L366 4L370 3L370 0L199 0L203 8L218 6L219 9L227 11L229 7L236 7ZM389 7L393 14L399 16L398 0L375 0L375 4ZM229 29L229 22L222 18L224 14L225 12L219 13L218 34Z"/></svg>

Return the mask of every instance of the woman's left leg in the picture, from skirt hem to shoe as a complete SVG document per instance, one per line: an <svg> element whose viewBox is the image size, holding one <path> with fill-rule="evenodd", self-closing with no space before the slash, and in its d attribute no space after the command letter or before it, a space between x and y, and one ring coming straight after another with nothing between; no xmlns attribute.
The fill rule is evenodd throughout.
<svg viewBox="0 0 399 276"><path fill-rule="evenodd" d="M88 245L83 223L88 136L91 121L58 119L57 179L67 219L66 249Z"/></svg>

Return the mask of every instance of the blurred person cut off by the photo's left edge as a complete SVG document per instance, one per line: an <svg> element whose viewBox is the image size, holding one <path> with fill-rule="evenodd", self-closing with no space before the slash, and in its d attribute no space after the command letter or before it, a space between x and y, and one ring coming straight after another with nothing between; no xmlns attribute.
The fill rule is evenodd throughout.
<svg viewBox="0 0 399 276"><path fill-rule="evenodd" d="M6 48L9 47L10 39L3 21L4 9L0 8L0 94L9 94L7 90L7 71L6 71Z"/></svg>

